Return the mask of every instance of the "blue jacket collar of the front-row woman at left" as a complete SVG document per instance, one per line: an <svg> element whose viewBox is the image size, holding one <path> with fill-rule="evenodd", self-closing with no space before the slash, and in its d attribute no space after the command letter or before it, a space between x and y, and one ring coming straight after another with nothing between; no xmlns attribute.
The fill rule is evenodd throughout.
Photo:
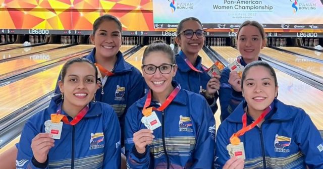
<svg viewBox="0 0 323 169"><path fill-rule="evenodd" d="M50 100L50 103L48 106L48 113L55 114L59 109L59 106L61 103L62 103L61 94L54 95ZM102 110L100 109L100 106L95 106L95 104L96 102L93 102L93 101L89 103L89 110L87 111L84 118L97 117L102 114ZM61 112L62 112L62 115L67 115L63 110Z"/></svg>

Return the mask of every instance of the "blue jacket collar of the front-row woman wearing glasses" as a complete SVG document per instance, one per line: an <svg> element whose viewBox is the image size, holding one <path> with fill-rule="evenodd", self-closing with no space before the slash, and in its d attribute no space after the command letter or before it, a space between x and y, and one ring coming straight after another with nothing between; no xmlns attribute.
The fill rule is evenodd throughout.
<svg viewBox="0 0 323 169"><path fill-rule="evenodd" d="M173 87L176 87L177 85L178 85L178 83L176 81L172 81L172 86ZM137 101L137 103L136 103L137 107L143 108L143 106L144 106L144 104L146 102L147 95L148 94L145 94L144 97L142 97L141 99L139 99ZM187 99L186 99L186 95L185 95L185 92L183 91L183 89L180 89L180 91L178 92L178 94L176 95L176 97L174 98L172 103L178 103L178 104L186 105ZM156 104L155 101L151 101L149 106L158 106L158 105Z"/></svg>

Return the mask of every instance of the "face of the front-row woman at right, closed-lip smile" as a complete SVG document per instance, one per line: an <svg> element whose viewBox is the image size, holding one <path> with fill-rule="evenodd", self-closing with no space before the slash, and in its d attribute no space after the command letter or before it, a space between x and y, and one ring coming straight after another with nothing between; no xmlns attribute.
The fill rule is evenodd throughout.
<svg viewBox="0 0 323 169"><path fill-rule="evenodd" d="M261 114L274 101L278 86L268 68L254 66L246 72L242 93L248 103L248 111Z"/></svg>

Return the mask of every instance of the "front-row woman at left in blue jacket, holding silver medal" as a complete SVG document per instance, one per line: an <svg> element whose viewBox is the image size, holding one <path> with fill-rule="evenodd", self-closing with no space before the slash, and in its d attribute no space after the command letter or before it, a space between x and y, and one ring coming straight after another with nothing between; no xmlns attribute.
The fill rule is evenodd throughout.
<svg viewBox="0 0 323 169"><path fill-rule="evenodd" d="M92 101L96 82L97 69L87 59L63 66L62 94L25 124L17 168L120 168L118 118L110 105Z"/></svg>

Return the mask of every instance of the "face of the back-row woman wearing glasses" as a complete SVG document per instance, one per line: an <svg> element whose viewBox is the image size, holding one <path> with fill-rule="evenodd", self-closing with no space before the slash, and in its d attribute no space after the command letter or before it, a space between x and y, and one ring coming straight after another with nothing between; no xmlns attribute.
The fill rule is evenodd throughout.
<svg viewBox="0 0 323 169"><path fill-rule="evenodd" d="M183 23L182 30L180 32L181 34L176 37L176 42L185 54L195 55L202 49L205 37L198 38L194 33L192 38L186 38L182 32L189 29L194 32L197 30L203 30L202 26L197 21L187 20Z"/></svg>

